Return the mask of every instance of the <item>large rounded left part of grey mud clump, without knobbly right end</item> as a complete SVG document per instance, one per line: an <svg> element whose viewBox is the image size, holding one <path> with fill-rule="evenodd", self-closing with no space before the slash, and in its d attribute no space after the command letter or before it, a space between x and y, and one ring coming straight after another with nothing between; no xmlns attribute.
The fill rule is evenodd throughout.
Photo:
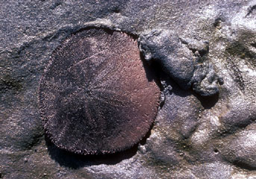
<svg viewBox="0 0 256 179"><path fill-rule="evenodd" d="M154 29L140 35L140 51L147 61L157 61L170 77L184 89L190 88L195 69L192 52L182 45L177 34L168 30Z"/></svg>

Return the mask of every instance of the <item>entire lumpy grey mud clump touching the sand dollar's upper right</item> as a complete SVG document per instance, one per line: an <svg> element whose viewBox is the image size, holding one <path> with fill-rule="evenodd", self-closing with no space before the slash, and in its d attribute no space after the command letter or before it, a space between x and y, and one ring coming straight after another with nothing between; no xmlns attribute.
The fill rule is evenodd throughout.
<svg viewBox="0 0 256 179"><path fill-rule="evenodd" d="M149 63L160 63L163 70L184 90L190 89L200 95L210 96L219 92L222 81L207 61L208 43L183 39L178 34L154 29L140 35L140 51Z"/></svg>

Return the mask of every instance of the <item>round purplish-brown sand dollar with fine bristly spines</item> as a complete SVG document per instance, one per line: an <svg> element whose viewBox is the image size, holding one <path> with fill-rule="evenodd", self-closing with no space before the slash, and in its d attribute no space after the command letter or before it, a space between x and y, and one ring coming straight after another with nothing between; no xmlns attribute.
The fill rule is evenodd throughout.
<svg viewBox="0 0 256 179"><path fill-rule="evenodd" d="M88 28L51 55L40 81L46 134L59 148L106 154L136 144L157 114L160 90L131 37Z"/></svg>

